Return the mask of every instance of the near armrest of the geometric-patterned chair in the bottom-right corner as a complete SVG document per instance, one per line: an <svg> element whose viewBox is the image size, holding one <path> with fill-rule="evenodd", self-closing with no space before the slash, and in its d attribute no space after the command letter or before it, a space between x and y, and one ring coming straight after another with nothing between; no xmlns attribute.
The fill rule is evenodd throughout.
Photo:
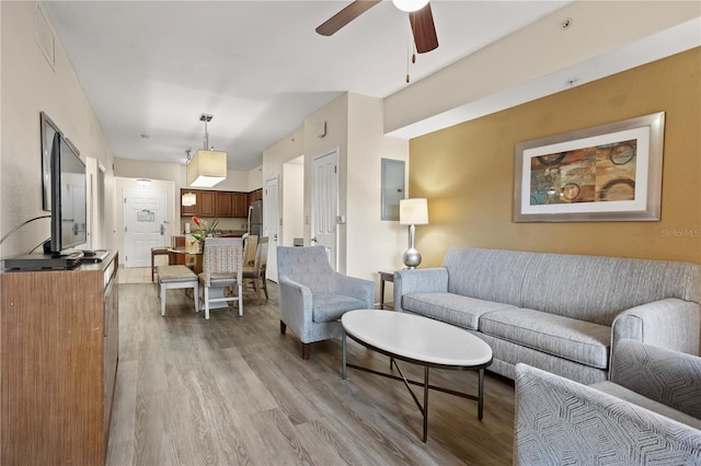
<svg viewBox="0 0 701 466"><path fill-rule="evenodd" d="M701 464L701 431L516 364L514 464Z"/></svg>

